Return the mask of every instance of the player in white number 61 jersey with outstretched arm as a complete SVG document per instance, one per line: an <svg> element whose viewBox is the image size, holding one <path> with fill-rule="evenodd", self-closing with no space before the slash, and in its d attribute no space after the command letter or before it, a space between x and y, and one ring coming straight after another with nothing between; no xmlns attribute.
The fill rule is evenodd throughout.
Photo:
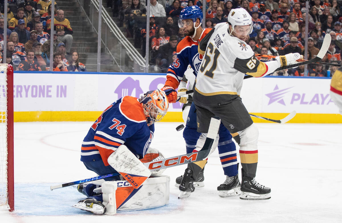
<svg viewBox="0 0 342 223"><path fill-rule="evenodd" d="M240 135L240 198L265 200L271 198L271 189L254 179L259 133L239 96L242 81L245 74L263 77L279 67L297 63L302 56L290 53L277 56L275 61L258 61L245 42L252 29L249 13L242 8L233 9L228 15L228 23L217 24L201 40L198 49L205 56L196 78L193 99L197 109L197 131L207 133L210 118L219 116L232 134Z"/></svg>

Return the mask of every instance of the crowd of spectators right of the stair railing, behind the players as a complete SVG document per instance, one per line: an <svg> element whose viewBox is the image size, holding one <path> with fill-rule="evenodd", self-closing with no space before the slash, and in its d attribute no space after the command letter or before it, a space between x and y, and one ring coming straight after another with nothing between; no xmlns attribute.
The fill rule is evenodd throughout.
<svg viewBox="0 0 342 223"><path fill-rule="evenodd" d="M148 1L147 1L148 2ZM185 35L178 28L177 20L183 8L191 5L203 7L200 0L150 0L149 38L150 65L156 70L166 71L166 60L170 64L176 48L169 44L170 39L179 42ZM253 31L246 41L257 54L284 55L299 52L304 54L305 36L308 37L308 59L317 55L324 36L329 33L332 41L323 62L341 64L342 49L342 1L310 0L308 12L305 0L207 0L206 28L217 23L227 22L232 9L244 8L252 16ZM107 0L107 6L113 9L120 25L126 28L127 36L134 38L136 48L141 48L145 56L146 39L146 0ZM305 18L308 13L308 32L305 31ZM166 48L166 49L165 49ZM174 51L172 51L174 49ZM165 52L168 51L168 54ZM163 61L160 58L164 59ZM258 57L260 61L272 60ZM308 75L327 76L327 70L334 71L337 66L309 66ZM332 74L333 72L331 72ZM303 76L304 67L290 69L273 75Z"/></svg>

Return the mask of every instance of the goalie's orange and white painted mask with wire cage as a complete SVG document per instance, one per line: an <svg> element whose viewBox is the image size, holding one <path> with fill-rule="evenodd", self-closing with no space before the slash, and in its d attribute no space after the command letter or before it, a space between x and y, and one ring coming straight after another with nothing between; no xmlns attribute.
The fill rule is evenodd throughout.
<svg viewBox="0 0 342 223"><path fill-rule="evenodd" d="M152 125L156 121L160 121L166 115L169 108L169 102L165 92L159 89L148 91L141 97L140 103L144 109L147 126Z"/></svg>

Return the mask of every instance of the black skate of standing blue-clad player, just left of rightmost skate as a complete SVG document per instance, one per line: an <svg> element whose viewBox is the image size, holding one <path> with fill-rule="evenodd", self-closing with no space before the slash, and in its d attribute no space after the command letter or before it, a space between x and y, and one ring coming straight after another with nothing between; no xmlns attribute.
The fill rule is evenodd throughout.
<svg viewBox="0 0 342 223"><path fill-rule="evenodd" d="M240 186L239 174L236 174L236 176L227 176L226 180L217 187L217 190L220 197L231 197L241 194Z"/></svg>

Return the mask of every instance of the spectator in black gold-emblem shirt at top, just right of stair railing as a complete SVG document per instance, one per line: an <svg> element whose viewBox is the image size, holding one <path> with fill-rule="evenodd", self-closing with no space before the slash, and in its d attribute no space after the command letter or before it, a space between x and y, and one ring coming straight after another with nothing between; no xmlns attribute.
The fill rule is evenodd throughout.
<svg viewBox="0 0 342 223"><path fill-rule="evenodd" d="M140 0L133 0L129 8L124 12L124 24L126 24L127 37L133 37L134 19L136 16L146 16L146 7Z"/></svg>

